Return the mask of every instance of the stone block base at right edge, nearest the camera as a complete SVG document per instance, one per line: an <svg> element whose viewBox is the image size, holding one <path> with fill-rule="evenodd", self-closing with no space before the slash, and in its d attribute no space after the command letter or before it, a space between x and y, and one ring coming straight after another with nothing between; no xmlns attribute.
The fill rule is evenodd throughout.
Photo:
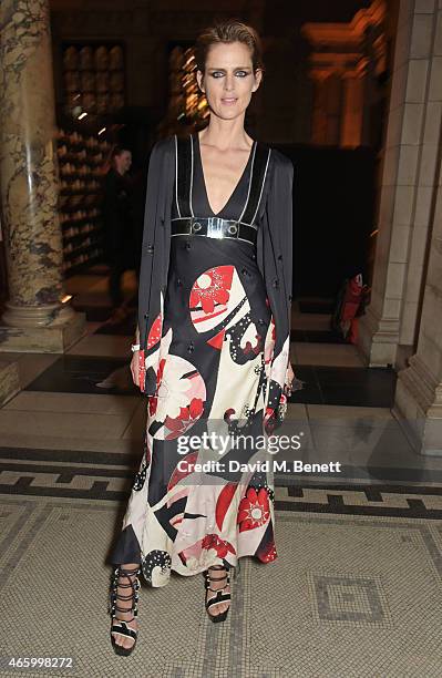
<svg viewBox="0 0 442 678"><path fill-rule="evenodd" d="M442 383L419 356L409 362L398 373L392 413L417 452L442 456Z"/></svg>

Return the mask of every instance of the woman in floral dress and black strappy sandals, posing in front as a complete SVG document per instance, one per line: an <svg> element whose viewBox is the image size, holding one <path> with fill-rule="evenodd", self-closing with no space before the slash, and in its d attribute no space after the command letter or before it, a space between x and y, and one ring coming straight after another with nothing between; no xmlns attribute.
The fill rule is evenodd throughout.
<svg viewBox="0 0 442 678"><path fill-rule="evenodd" d="M279 425L294 380L294 170L244 129L263 76L255 31L218 24L199 35L196 56L208 126L157 142L150 160L131 363L148 396L147 425L112 554L111 636L126 655L136 643L140 572L151 586L167 584L172 569L204 573L207 614L222 622L230 567L246 555L276 558L271 470L247 464L260 456L258 435L267 440ZM207 444L204 433L218 438ZM238 434L249 435L246 449L220 450L222 436L232 443ZM183 449L189 436L196 449ZM247 470L210 465L233 459Z"/></svg>

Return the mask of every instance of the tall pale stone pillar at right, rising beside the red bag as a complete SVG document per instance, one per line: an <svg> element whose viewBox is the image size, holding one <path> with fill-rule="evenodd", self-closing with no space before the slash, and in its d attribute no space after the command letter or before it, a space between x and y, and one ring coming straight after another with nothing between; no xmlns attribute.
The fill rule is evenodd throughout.
<svg viewBox="0 0 442 678"><path fill-rule="evenodd" d="M399 369L417 350L436 199L441 58L438 1L401 0L371 302L360 319L359 348L370 366Z"/></svg>

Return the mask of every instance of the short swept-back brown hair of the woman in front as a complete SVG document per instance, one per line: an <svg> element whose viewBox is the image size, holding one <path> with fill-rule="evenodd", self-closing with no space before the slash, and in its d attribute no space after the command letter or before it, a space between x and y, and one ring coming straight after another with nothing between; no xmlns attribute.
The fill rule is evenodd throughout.
<svg viewBox="0 0 442 678"><path fill-rule="evenodd" d="M195 60L198 70L204 73L208 50L213 44L241 42L246 44L251 53L254 71L261 69L263 45L258 33L251 25L247 25L237 19L227 19L205 29L197 38L195 44Z"/></svg>

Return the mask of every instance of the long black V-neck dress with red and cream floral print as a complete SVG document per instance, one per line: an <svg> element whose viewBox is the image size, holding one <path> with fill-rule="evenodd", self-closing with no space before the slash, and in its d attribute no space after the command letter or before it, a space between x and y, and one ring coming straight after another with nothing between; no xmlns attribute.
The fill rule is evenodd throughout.
<svg viewBox="0 0 442 678"><path fill-rule="evenodd" d="M172 223L186 210L239 222L251 214L259 229L270 150L254 142L243 176L214 214L198 134L175 143ZM277 557L273 469L263 441L266 414L284 401L289 339L279 378L270 379L270 307L254 244L171 237L167 287L147 337L156 390L147 398L144 453L112 555L113 563L141 563L152 586L167 584L171 569L193 575L236 566L243 556Z"/></svg>

